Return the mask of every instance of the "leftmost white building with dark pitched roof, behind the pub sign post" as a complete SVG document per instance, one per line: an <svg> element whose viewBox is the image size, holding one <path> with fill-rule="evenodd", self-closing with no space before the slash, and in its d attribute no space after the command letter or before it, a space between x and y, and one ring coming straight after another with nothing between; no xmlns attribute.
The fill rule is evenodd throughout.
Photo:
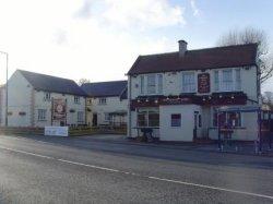
<svg viewBox="0 0 273 204"><path fill-rule="evenodd" d="M1 125L5 125L5 87L1 88ZM85 124L86 94L72 80L16 70L8 81L8 125Z"/></svg>

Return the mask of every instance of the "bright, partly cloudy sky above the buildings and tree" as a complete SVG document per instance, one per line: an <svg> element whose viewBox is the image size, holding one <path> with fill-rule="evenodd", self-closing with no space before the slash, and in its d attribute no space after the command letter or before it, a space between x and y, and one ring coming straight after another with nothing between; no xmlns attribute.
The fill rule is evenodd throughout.
<svg viewBox="0 0 273 204"><path fill-rule="evenodd" d="M272 9L271 0L0 0L0 51L9 52L9 75L124 80L139 55L177 51L179 39L214 47L229 29L251 26L272 41Z"/></svg>

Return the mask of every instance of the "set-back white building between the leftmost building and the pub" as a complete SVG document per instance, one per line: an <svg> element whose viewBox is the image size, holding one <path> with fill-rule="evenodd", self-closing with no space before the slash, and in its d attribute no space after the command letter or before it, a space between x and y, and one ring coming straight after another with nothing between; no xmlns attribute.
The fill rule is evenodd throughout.
<svg viewBox="0 0 273 204"><path fill-rule="evenodd" d="M127 124L127 81L83 84L86 99L88 125L124 127Z"/></svg>

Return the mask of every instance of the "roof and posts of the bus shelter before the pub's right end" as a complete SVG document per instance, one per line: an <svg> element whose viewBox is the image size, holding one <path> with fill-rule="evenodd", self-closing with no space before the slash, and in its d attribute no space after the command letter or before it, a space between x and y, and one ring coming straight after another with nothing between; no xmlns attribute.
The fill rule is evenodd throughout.
<svg viewBox="0 0 273 204"><path fill-rule="evenodd" d="M217 109L217 118L219 118L219 115L222 112L257 112L257 123L258 123L258 135L257 135L257 142L259 143L259 152L262 149L262 122L264 120L264 113L268 115L268 121L269 121L269 130L271 131L271 122L272 122L272 116L273 111L266 110L262 108L262 106L259 105L252 105L252 106L223 106ZM218 147L221 148L221 123L218 122ZM272 148L272 135L269 135L269 147Z"/></svg>

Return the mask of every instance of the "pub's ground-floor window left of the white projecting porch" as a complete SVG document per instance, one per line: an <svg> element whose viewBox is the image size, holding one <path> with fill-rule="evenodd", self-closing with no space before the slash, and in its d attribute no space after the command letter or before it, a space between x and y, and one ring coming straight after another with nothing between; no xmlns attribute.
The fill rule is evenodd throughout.
<svg viewBox="0 0 273 204"><path fill-rule="evenodd" d="M139 110L138 127L159 127L158 110Z"/></svg>

